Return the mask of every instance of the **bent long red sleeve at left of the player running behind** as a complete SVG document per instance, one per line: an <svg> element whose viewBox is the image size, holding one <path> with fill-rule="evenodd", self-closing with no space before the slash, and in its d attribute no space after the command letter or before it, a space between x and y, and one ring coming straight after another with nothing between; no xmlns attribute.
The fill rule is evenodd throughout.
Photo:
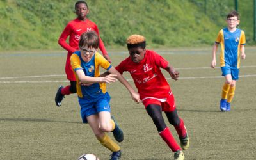
<svg viewBox="0 0 256 160"><path fill-rule="evenodd" d="M66 49L68 52L75 52L76 49L68 45L68 43L66 42L68 36L70 36L71 31L72 31L72 25L68 23L65 29L63 30L63 32L61 33L58 43L61 45L61 47Z"/></svg>

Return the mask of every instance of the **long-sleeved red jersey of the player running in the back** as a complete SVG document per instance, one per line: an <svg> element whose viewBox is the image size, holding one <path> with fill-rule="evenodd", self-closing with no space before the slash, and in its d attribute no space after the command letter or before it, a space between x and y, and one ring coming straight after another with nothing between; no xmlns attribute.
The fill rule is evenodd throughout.
<svg viewBox="0 0 256 160"><path fill-rule="evenodd" d="M102 51L102 54L107 54L105 46L100 39L99 29L97 25L86 19L85 21L79 20L78 18L68 22L67 26L63 30L59 38L59 44L61 47L68 51L68 54L72 54L73 52L79 49L78 44L80 40L80 36L86 31L96 31L99 36L99 48ZM66 40L69 36L69 45L67 44Z"/></svg>

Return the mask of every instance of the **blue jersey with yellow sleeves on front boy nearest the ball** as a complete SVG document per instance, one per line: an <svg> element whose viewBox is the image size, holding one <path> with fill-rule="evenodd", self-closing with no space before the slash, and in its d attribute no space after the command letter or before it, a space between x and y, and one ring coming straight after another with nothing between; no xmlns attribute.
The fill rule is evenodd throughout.
<svg viewBox="0 0 256 160"><path fill-rule="evenodd" d="M85 62L81 57L81 52L76 51L72 54L70 60L71 66L76 76L77 95L80 98L84 97L88 99L95 99L100 95L106 93L106 83L93 83L90 86L81 86L79 84L79 79L76 74L76 70L83 70L86 76L98 77L100 76L99 67L109 70L109 68L111 68L112 66L101 54L96 52L90 61Z"/></svg>

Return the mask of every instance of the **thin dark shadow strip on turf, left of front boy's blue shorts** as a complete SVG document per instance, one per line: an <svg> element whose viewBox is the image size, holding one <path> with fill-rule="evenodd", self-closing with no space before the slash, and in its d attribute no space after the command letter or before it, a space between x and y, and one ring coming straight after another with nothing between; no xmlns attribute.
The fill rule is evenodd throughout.
<svg viewBox="0 0 256 160"><path fill-rule="evenodd" d="M82 122L68 122L60 120L49 120L49 119L39 119L39 118L0 118L0 121L13 121L13 122L58 122L58 123L68 123L68 124L83 124Z"/></svg>

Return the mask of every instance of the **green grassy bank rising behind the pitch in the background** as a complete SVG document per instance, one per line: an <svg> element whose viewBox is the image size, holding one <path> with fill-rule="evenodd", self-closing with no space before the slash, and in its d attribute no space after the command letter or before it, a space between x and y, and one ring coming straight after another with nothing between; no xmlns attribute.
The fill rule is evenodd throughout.
<svg viewBox="0 0 256 160"><path fill-rule="evenodd" d="M253 44L253 2L241 3L241 25ZM0 51L58 50L58 37L76 18L70 0L0 1ZM125 45L131 34L141 34L152 47L212 45L225 27L234 1L211 0L90 0L88 18L97 24L107 47Z"/></svg>

